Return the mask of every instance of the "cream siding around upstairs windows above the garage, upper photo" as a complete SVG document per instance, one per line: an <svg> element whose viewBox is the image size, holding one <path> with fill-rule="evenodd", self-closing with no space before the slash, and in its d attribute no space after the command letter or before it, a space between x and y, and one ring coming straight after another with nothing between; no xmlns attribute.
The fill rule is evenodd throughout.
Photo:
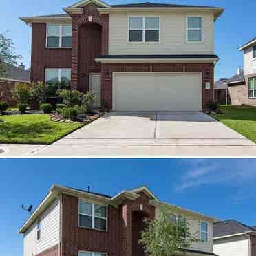
<svg viewBox="0 0 256 256"><path fill-rule="evenodd" d="M186 42L186 17L202 16L202 43ZM129 16L159 16L159 43L129 43ZM109 54L213 54L214 21L211 12L111 12Z"/></svg>

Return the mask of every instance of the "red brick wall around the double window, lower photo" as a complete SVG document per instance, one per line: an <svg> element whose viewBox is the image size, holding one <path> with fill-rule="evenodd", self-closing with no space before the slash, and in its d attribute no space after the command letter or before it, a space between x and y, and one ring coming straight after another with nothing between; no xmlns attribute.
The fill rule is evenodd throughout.
<svg viewBox="0 0 256 256"><path fill-rule="evenodd" d="M108 208L108 231L78 228L78 198L63 195L63 255L77 256L78 250L121 255L120 209Z"/></svg>

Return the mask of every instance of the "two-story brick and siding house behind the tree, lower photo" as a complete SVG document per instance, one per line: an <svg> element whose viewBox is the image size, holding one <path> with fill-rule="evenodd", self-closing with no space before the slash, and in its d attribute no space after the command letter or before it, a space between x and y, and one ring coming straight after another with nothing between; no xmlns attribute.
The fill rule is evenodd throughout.
<svg viewBox="0 0 256 256"><path fill-rule="evenodd" d="M183 251L213 255L215 218L160 201L147 187L109 196L54 185L20 228L24 256L144 256L138 244L143 220L164 210L175 220L186 217L200 237Z"/></svg>

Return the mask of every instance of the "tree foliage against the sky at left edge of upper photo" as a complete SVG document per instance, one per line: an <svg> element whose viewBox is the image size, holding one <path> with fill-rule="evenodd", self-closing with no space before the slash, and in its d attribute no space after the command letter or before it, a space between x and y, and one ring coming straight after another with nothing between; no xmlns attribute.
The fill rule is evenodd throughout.
<svg viewBox="0 0 256 256"><path fill-rule="evenodd" d="M6 76L8 66L17 65L16 61L19 58L21 57L14 53L12 39L0 34L0 77Z"/></svg>

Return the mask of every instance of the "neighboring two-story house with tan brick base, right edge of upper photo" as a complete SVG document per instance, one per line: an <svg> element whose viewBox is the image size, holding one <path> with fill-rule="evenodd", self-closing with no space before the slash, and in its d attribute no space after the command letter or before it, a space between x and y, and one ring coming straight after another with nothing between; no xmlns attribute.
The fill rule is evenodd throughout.
<svg viewBox="0 0 256 256"><path fill-rule="evenodd" d="M244 70L228 81L233 105L256 105L256 38L239 48L244 54Z"/></svg>

